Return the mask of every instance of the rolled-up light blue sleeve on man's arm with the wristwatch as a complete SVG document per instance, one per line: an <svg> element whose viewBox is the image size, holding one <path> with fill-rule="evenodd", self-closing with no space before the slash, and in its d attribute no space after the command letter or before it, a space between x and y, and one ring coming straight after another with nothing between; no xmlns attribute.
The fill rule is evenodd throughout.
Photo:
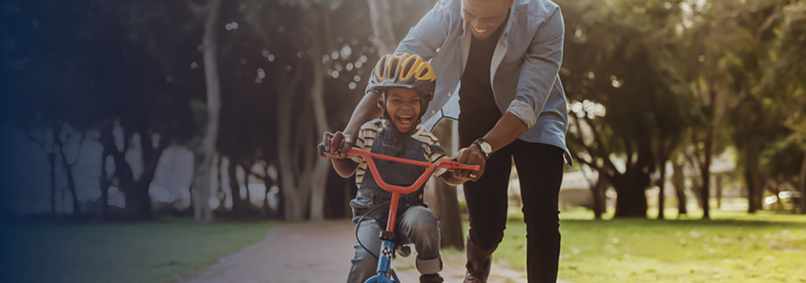
<svg viewBox="0 0 806 283"><path fill-rule="evenodd" d="M535 31L529 51L521 67L517 94L507 112L514 114L527 128L537 123L538 114L546 105L563 63L563 15L559 7L546 17Z"/></svg>

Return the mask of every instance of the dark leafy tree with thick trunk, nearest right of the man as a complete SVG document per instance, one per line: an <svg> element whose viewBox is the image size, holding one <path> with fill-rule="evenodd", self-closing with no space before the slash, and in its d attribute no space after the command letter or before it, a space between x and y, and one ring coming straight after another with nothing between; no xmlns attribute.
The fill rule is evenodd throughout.
<svg viewBox="0 0 806 283"><path fill-rule="evenodd" d="M616 217L646 217L650 174L685 128L690 93L673 56L681 10L660 2L559 3L568 31L560 76L571 102L571 152L613 185Z"/></svg>

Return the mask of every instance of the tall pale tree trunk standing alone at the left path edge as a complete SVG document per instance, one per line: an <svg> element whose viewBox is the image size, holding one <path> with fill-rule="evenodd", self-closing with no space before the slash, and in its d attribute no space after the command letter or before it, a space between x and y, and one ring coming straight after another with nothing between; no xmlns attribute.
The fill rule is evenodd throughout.
<svg viewBox="0 0 806 283"><path fill-rule="evenodd" d="M210 0L205 5L205 23L202 46L205 85L207 89L207 127L202 139L201 162L197 163L193 177L193 218L197 222L213 221L210 210L210 169L213 166L215 143L218 139L218 116L221 111L221 85L218 81L218 14L222 0Z"/></svg>

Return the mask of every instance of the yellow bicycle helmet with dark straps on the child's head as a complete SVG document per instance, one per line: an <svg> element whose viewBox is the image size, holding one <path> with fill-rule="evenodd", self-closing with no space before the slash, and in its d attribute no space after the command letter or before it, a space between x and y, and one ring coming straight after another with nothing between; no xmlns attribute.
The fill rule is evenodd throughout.
<svg viewBox="0 0 806 283"><path fill-rule="evenodd" d="M431 99L434 98L437 77L434 75L434 68L422 56L397 52L380 57L375 69L372 69L368 86L369 89L378 92L384 101L386 88L405 87L417 90L422 96L422 111L415 123L418 124L422 115L426 113ZM384 110L384 119L388 119L386 107L383 104L379 106Z"/></svg>

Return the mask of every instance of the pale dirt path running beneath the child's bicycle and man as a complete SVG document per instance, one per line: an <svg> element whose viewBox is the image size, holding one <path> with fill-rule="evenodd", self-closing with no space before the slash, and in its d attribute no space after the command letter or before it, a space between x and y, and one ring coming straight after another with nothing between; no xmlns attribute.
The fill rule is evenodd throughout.
<svg viewBox="0 0 806 283"><path fill-rule="evenodd" d="M324 283L343 282L350 268L353 223L347 220L300 223L272 227L267 238L183 283ZM461 254L443 256L442 277L460 282L464 274ZM406 283L418 282L414 255L395 261L397 274ZM526 282L526 274L493 264L489 283ZM562 281L558 281L562 282ZM563 282L568 283L568 282Z"/></svg>

